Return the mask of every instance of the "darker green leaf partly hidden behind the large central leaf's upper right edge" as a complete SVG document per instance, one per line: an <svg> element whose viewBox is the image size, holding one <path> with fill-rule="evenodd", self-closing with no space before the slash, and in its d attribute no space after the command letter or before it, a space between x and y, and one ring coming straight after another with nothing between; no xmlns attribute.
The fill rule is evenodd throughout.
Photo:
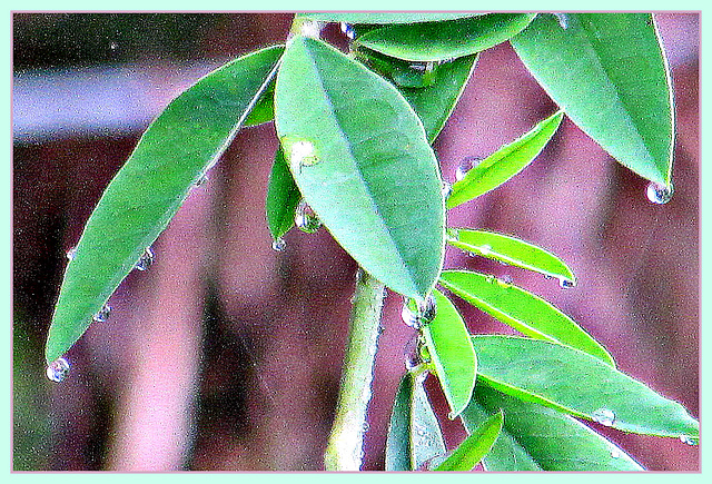
<svg viewBox="0 0 712 484"><path fill-rule="evenodd" d="M398 88L423 121L427 140L431 144L435 141L445 126L445 121L455 109L476 63L477 55L461 57L452 62L439 65L435 70L435 80L431 86Z"/></svg>

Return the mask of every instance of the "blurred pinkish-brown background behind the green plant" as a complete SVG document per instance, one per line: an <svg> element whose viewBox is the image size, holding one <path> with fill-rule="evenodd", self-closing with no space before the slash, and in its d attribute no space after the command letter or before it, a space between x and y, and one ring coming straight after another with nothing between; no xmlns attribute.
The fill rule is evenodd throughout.
<svg viewBox="0 0 712 484"><path fill-rule="evenodd" d="M516 235L560 255L578 285L465 257L507 275L592 333L619 366L699 417L699 13L655 14L676 101L675 194L646 182L565 120L500 189L451 226ZM13 468L316 471L330 428L356 265L325 229L271 249L264 198L274 125L245 129L154 245L156 263L110 299L111 318L69 352L61 384L43 344L66 253L150 120L227 60L284 41L291 14L14 13ZM345 48L338 26L324 37ZM435 144L443 176L485 157L556 107L508 45L481 56ZM473 333L504 332L459 304ZM402 298L384 308L365 470L382 470L390 405L413 337ZM446 418L448 448L465 436ZM653 471L699 471L675 439L596 427Z"/></svg>

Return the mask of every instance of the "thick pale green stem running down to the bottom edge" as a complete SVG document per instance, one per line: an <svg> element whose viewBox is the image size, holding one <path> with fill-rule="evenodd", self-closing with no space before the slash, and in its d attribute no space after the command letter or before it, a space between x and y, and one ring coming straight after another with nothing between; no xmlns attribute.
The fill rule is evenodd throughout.
<svg viewBox="0 0 712 484"><path fill-rule="evenodd" d="M326 471L360 468L383 297L384 285L359 268L336 415L324 454Z"/></svg>

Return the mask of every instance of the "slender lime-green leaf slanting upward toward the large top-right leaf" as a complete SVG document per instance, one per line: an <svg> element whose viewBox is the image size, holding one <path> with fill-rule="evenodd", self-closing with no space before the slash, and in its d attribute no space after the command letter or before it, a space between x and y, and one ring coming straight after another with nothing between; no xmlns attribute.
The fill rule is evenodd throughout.
<svg viewBox="0 0 712 484"><path fill-rule="evenodd" d="M537 124L531 131L510 145L505 145L479 165L473 167L462 180L453 184L447 199L447 208L457 207L465 201L495 189L518 174L542 152L554 136L564 113L555 112Z"/></svg>

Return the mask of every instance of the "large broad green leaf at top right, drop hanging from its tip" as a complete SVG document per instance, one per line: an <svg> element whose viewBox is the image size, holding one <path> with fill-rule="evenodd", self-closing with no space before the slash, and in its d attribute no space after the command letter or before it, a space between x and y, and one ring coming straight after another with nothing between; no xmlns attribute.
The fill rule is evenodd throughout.
<svg viewBox="0 0 712 484"><path fill-rule="evenodd" d="M511 42L552 99L613 158L669 185L670 72L651 13L538 16Z"/></svg>

